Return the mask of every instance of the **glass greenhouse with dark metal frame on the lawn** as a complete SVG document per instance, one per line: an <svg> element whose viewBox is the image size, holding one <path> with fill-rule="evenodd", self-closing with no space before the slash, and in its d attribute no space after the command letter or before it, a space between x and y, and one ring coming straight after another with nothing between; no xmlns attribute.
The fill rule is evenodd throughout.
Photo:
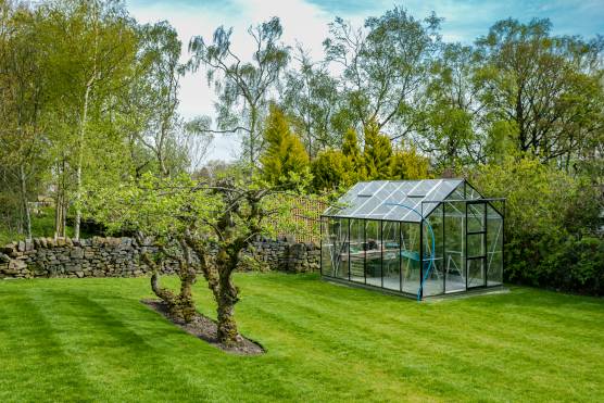
<svg viewBox="0 0 604 403"><path fill-rule="evenodd" d="M418 300L502 287L504 215L464 179L358 182L322 215L322 276Z"/></svg>

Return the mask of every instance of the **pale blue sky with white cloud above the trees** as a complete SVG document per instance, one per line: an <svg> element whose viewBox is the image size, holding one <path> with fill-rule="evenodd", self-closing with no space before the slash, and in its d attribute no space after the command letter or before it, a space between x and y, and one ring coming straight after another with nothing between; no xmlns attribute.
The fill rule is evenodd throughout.
<svg viewBox="0 0 604 403"><path fill-rule="evenodd" d="M301 42L315 60L323 56L322 42L328 24L336 16L361 25L367 16L379 16L394 5L402 5L416 18L432 11L444 18L441 35L445 41L471 43L486 35L499 20L513 17L528 22L533 17L550 18L556 35L604 35L604 0L126 0L130 14L139 23L168 21L183 41L183 61L189 58L187 46L193 36L210 40L214 30L232 27L232 46L238 54L250 54L247 36L250 25L278 16L284 26L282 40L293 46ZM188 73L180 81L179 112L185 118L214 115L216 97L207 87L205 74ZM240 147L235 135L217 136L206 160L232 160Z"/></svg>

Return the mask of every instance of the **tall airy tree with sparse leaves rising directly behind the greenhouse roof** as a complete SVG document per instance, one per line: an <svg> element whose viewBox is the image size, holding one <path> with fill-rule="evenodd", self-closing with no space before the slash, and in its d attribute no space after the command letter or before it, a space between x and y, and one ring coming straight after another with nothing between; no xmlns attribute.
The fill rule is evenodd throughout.
<svg viewBox="0 0 604 403"><path fill-rule="evenodd" d="M375 123L391 139L413 133L439 24L433 14L421 22L397 7L367 18L364 28L340 17L329 25L327 60L343 68L342 91L355 124L366 129Z"/></svg>

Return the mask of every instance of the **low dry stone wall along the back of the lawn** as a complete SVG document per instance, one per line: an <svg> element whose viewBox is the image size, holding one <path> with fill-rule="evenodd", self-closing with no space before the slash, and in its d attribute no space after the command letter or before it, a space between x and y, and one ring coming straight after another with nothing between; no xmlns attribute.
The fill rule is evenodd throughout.
<svg viewBox="0 0 604 403"><path fill-rule="evenodd" d="M155 250L131 238L35 238L0 247L0 278L144 276L150 269L141 261L143 252ZM314 243L264 239L254 242L246 254L270 269L319 269L320 251ZM168 262L164 274L174 273L176 267Z"/></svg>

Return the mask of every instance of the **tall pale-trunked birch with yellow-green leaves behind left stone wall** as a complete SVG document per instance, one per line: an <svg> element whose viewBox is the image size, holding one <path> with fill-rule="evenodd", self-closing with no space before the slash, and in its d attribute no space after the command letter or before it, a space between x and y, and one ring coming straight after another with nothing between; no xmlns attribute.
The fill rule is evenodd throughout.
<svg viewBox="0 0 604 403"><path fill-rule="evenodd" d="M79 238L81 211L79 200L88 141L95 133L91 117L108 112L114 91L125 87L133 65L136 36L133 21L116 1L66 0L43 5L47 10L43 34L49 52L49 68L54 74L53 98L56 116L71 138L75 171L74 237ZM97 116L91 116L95 112ZM75 133L74 133L75 131Z"/></svg>

